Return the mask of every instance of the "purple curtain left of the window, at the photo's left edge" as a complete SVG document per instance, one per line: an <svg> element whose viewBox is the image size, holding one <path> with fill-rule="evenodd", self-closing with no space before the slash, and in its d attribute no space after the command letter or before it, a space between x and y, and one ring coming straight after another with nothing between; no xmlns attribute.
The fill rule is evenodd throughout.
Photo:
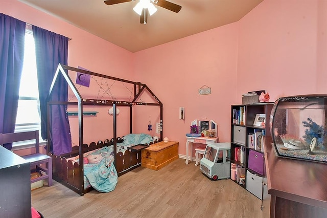
<svg viewBox="0 0 327 218"><path fill-rule="evenodd" d="M26 23L0 13L0 133L15 131ZM4 144L11 150L12 143Z"/></svg>

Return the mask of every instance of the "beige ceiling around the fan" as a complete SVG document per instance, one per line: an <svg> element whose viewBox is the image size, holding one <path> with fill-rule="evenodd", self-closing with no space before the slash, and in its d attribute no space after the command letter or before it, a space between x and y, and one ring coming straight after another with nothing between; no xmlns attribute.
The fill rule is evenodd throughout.
<svg viewBox="0 0 327 218"><path fill-rule="evenodd" d="M110 6L103 0L19 1L137 52L238 21L263 0L171 0L181 10L175 13L156 6L146 25L133 11L138 0Z"/></svg>

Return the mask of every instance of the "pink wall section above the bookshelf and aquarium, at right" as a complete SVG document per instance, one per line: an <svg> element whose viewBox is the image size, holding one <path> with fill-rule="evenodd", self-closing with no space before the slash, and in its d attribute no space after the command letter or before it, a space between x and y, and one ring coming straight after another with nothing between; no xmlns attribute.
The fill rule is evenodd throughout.
<svg viewBox="0 0 327 218"><path fill-rule="evenodd" d="M323 2L265 0L239 21L238 96L326 93Z"/></svg>

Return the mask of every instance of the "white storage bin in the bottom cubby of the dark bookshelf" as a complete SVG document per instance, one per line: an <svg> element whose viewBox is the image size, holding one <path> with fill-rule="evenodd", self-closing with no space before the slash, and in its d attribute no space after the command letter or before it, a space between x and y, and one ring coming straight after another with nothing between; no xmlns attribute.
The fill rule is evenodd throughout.
<svg viewBox="0 0 327 218"><path fill-rule="evenodd" d="M268 196L267 185L264 186L264 193L262 193L263 181L267 183L266 178L263 180L262 177L251 173L249 170L246 170L246 190L254 194L260 200L262 200L263 196L264 198Z"/></svg>

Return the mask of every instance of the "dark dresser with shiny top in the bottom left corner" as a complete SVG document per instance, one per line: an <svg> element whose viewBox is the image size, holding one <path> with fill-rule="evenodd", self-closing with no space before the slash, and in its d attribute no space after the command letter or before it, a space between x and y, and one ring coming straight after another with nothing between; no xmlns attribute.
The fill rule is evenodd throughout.
<svg viewBox="0 0 327 218"><path fill-rule="evenodd" d="M32 216L30 163L1 145L0 190L0 217Z"/></svg>

